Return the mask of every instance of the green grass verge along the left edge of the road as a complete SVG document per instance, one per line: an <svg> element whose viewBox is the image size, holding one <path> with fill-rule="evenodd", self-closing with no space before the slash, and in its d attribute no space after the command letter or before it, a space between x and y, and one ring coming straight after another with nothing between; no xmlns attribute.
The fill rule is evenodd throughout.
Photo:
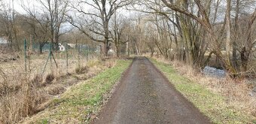
<svg viewBox="0 0 256 124"><path fill-rule="evenodd" d="M102 106L102 97L120 80L131 60L118 60L117 65L108 68L96 77L78 83L68 89L60 98L51 101L47 110L32 116L25 123L87 123L93 113Z"/></svg>

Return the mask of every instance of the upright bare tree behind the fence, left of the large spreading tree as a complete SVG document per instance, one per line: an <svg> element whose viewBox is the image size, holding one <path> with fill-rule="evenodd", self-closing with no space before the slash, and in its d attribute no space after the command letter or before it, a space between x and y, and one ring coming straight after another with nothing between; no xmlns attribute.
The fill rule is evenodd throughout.
<svg viewBox="0 0 256 124"><path fill-rule="evenodd" d="M54 43L55 47L53 49L58 50L59 36L66 33L61 32L61 29L62 25L66 23L66 14L69 12L69 0L36 0L35 3L37 3L39 7L32 7L30 5L33 3L32 1L22 2L23 9L27 12L27 14L32 17L33 20L39 23L41 28L44 29L45 33L50 32L50 35L48 35L49 39L44 39L50 40L52 43Z"/></svg>

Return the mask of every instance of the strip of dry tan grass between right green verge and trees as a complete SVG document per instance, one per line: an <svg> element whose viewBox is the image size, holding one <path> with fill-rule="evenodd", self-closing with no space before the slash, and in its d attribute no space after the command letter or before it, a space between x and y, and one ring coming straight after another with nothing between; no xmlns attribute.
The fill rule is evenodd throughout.
<svg viewBox="0 0 256 124"><path fill-rule="evenodd" d="M249 95L253 87L251 85L251 80L233 80L230 77L207 77L183 62L169 62L169 60L161 58L155 59L160 62L171 64L179 74L188 77L190 80L194 80L194 82L200 83L212 92L225 96L228 106L256 116L256 97Z"/></svg>

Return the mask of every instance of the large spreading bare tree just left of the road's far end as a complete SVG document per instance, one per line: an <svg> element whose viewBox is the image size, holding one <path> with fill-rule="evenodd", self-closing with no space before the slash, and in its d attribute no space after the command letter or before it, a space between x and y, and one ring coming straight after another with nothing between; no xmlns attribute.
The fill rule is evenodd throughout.
<svg viewBox="0 0 256 124"><path fill-rule="evenodd" d="M73 9L80 13L77 19L70 16L70 23L81 30L93 41L102 42L104 55L106 56L110 47L109 22L114 11L123 6L129 5L132 1L120 0L81 0L72 5ZM88 8L84 8L87 6Z"/></svg>

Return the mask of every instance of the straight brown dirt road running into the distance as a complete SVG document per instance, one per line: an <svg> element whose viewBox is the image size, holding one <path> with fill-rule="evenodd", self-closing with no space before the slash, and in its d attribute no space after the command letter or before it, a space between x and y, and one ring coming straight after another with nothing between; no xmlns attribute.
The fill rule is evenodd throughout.
<svg viewBox="0 0 256 124"><path fill-rule="evenodd" d="M145 57L136 57L96 124L210 123Z"/></svg>

